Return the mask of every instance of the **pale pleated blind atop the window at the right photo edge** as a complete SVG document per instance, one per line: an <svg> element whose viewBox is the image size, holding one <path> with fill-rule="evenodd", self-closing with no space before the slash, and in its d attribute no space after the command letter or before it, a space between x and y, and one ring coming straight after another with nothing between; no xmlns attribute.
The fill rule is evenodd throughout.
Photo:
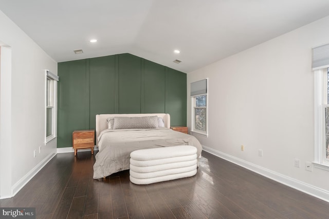
<svg viewBox="0 0 329 219"><path fill-rule="evenodd" d="M312 69L329 67L329 44L313 48Z"/></svg>

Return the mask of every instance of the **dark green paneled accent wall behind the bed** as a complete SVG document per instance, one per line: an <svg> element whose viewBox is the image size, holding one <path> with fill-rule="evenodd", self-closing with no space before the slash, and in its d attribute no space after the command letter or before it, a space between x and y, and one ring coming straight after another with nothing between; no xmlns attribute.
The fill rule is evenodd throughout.
<svg viewBox="0 0 329 219"><path fill-rule="evenodd" d="M95 129L97 114L169 113L171 125L186 125L184 72L124 53L60 62L58 76L58 148Z"/></svg>

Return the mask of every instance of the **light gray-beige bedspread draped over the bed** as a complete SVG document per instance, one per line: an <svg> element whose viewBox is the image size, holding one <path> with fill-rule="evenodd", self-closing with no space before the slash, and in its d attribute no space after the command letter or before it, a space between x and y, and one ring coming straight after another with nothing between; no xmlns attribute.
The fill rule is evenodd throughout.
<svg viewBox="0 0 329 219"><path fill-rule="evenodd" d="M139 149L192 145L196 147L198 157L202 152L202 146L194 136L168 128L104 130L98 140L94 179L128 170L130 153Z"/></svg>

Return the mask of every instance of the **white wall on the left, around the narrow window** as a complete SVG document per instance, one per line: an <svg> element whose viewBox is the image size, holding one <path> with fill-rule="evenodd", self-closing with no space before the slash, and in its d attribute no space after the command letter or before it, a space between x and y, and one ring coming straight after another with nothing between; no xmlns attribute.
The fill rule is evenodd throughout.
<svg viewBox="0 0 329 219"><path fill-rule="evenodd" d="M8 86L11 94L9 119L0 119L1 129L10 129L11 133L2 145L0 153L6 154L10 162L6 169L1 168L1 198L15 194L38 172L43 165L56 154L56 139L45 143L45 69L57 75L57 62L52 60L19 27L0 11L0 41L11 49L11 75ZM2 72L0 72L2 74ZM3 76L2 76L3 78ZM6 77L4 77L6 78ZM3 94L4 87L1 87ZM7 89L7 88L6 88ZM1 112L5 105L0 105ZM39 146L42 146L39 153ZM37 155L33 158L33 151ZM11 178L4 178L10 171ZM10 180L11 188L3 188Z"/></svg>

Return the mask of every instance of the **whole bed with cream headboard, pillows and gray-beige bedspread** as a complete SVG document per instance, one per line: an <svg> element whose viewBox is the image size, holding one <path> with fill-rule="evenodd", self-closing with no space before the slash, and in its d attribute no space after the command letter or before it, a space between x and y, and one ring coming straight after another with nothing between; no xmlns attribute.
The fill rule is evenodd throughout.
<svg viewBox="0 0 329 219"><path fill-rule="evenodd" d="M170 129L169 114L96 115L94 179L128 170L130 153L139 149L192 145L201 156L202 146L192 135Z"/></svg>

